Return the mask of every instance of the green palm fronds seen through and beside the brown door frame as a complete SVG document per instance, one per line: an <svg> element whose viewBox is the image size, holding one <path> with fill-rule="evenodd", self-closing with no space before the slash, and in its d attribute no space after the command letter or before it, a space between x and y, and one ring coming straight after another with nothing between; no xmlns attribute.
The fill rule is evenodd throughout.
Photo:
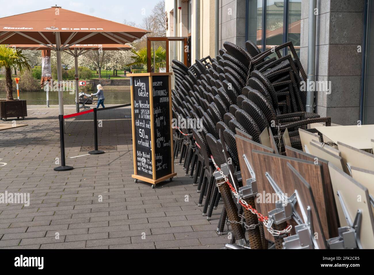
<svg viewBox="0 0 374 275"><path fill-rule="evenodd" d="M131 64L127 64L127 66L132 65L142 65L144 68L147 68L147 48L142 48L138 51L134 49L131 50L134 53L134 56L130 56L130 58L134 61ZM158 47L154 51L155 56L155 66L156 68L163 68L166 66L166 50L163 47ZM153 68L153 48L151 48L151 70L154 72Z"/></svg>

